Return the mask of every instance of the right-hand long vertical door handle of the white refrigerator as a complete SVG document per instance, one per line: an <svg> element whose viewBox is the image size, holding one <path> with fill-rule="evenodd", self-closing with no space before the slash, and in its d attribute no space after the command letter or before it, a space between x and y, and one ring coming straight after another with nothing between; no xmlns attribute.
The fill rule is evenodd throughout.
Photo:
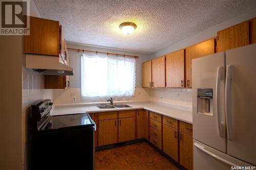
<svg viewBox="0 0 256 170"><path fill-rule="evenodd" d="M231 117L231 80L232 80L232 65L227 66L226 87L225 87L225 112L227 137L232 140L232 117Z"/></svg>

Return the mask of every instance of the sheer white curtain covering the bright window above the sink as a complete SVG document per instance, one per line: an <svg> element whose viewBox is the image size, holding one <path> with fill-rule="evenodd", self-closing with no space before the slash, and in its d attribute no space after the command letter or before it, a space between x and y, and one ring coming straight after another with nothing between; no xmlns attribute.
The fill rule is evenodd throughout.
<svg viewBox="0 0 256 170"><path fill-rule="evenodd" d="M81 96L132 96L135 58L81 54Z"/></svg>

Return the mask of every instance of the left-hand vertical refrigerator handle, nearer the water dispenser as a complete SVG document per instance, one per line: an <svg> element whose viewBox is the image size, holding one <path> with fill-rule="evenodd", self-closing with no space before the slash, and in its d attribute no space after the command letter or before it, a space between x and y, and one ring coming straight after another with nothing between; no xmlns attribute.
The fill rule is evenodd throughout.
<svg viewBox="0 0 256 170"><path fill-rule="evenodd" d="M224 136L224 125L221 123L221 81L224 79L224 72L223 66L218 67L217 71L217 82L216 82L216 115L217 115L217 122L218 122L218 129L220 137Z"/></svg>

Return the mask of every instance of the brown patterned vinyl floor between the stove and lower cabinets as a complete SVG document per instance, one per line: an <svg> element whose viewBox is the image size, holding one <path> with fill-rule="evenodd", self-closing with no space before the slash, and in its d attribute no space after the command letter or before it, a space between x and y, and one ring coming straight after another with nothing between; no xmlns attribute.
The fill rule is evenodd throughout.
<svg viewBox="0 0 256 170"><path fill-rule="evenodd" d="M146 142L95 153L95 169L179 169Z"/></svg>

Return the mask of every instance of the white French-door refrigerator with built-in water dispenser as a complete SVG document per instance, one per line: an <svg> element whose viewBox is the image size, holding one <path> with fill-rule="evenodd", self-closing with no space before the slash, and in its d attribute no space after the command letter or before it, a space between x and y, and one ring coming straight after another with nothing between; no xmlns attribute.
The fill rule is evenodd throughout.
<svg viewBox="0 0 256 170"><path fill-rule="evenodd" d="M256 44L192 60L193 164L256 169Z"/></svg>

